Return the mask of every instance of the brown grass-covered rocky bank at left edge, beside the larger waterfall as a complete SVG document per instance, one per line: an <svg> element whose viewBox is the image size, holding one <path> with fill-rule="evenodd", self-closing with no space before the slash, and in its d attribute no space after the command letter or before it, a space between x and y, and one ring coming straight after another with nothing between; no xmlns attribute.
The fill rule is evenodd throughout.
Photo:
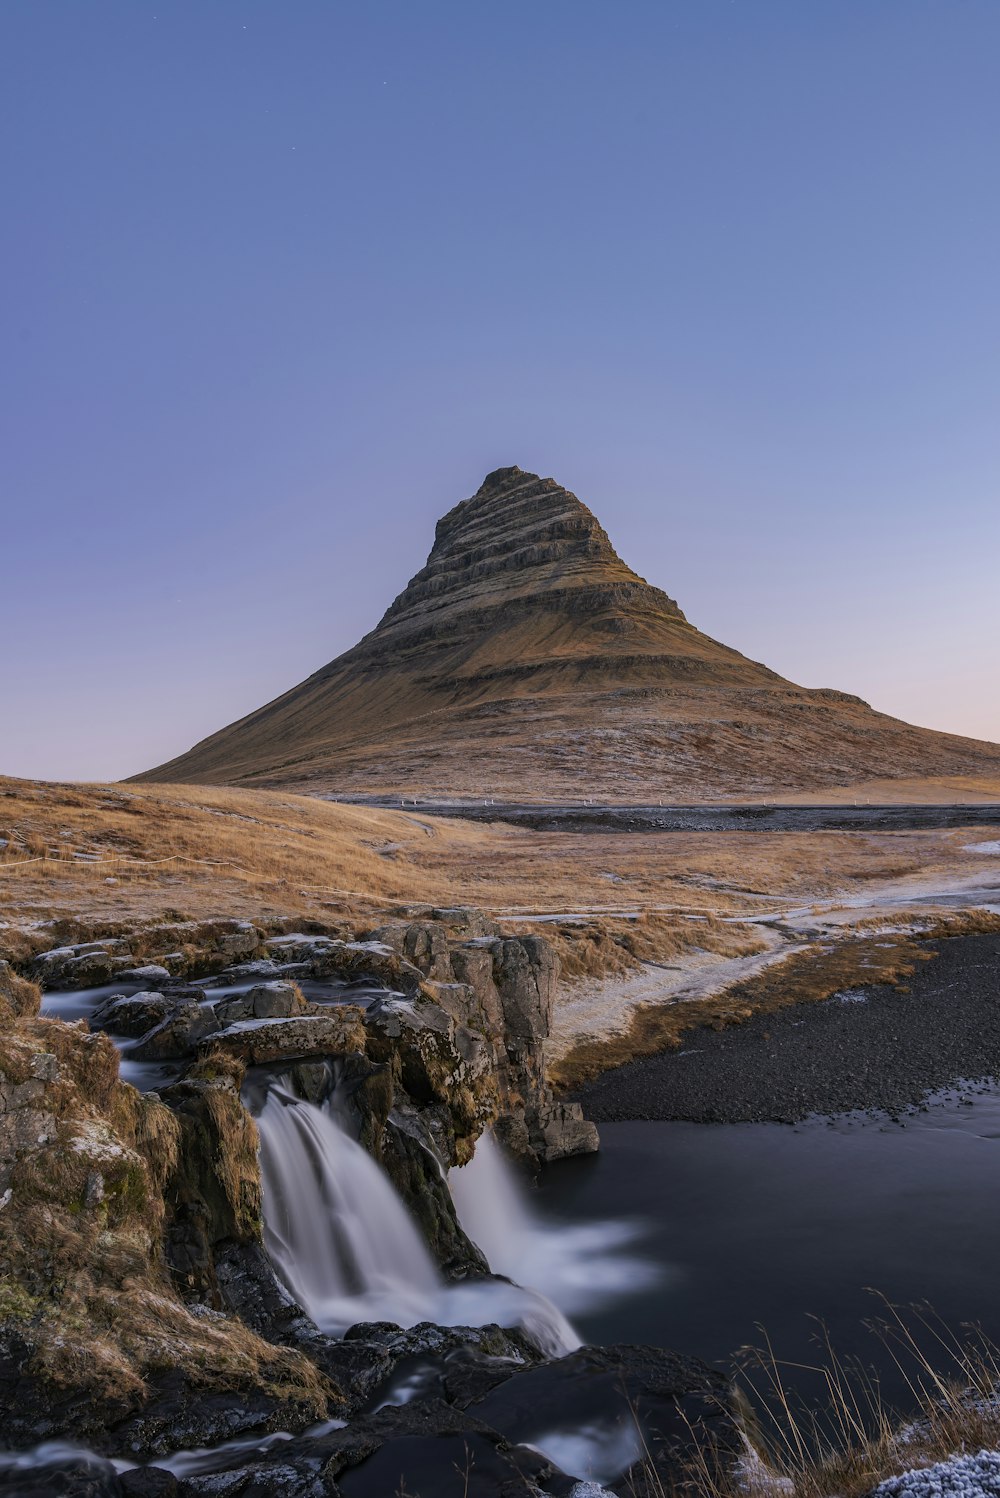
<svg viewBox="0 0 1000 1498"><path fill-rule="evenodd" d="M178 1115L118 1079L108 1035L37 1019L6 963L0 1001L4 1444L165 1452L343 1408L305 1354L189 1303L171 1275L171 1183L195 1168Z"/></svg>

